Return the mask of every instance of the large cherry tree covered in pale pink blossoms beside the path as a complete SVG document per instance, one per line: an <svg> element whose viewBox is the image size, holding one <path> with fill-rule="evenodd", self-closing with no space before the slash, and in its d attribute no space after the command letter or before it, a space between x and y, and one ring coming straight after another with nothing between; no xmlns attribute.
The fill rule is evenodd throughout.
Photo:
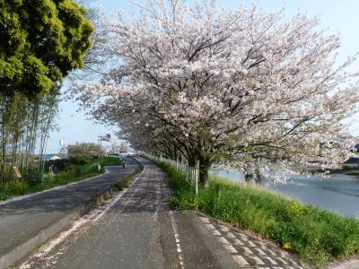
<svg viewBox="0 0 359 269"><path fill-rule="evenodd" d="M151 1L130 20L104 17L103 46L120 65L73 93L137 149L247 176L337 168L355 141L343 120L359 100L355 56L338 64L320 20L256 5Z"/></svg>

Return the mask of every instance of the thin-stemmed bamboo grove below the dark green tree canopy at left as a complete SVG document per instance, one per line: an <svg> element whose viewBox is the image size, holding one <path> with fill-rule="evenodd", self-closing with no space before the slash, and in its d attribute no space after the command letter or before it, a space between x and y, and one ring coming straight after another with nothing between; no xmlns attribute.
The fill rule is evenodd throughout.
<svg viewBox="0 0 359 269"><path fill-rule="evenodd" d="M57 91L35 100L27 99L19 91L12 96L0 96L3 183L13 179L13 167L17 167L30 184L41 180L48 132L54 127L57 104ZM35 154L35 150L39 153Z"/></svg>

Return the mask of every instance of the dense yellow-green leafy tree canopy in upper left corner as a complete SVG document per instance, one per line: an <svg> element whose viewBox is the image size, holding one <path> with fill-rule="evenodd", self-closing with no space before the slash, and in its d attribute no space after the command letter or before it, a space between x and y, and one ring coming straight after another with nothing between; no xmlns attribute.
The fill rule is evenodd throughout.
<svg viewBox="0 0 359 269"><path fill-rule="evenodd" d="M83 65L92 22L73 0L0 0L0 91L32 98Z"/></svg>

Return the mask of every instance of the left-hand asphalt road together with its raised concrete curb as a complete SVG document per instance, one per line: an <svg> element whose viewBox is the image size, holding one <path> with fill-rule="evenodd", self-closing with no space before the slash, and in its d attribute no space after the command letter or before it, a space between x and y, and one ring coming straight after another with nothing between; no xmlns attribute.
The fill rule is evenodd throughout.
<svg viewBox="0 0 359 269"><path fill-rule="evenodd" d="M126 169L108 167L104 175L1 204L0 268L27 255L86 213L94 196L134 172L137 162L128 158L127 165Z"/></svg>

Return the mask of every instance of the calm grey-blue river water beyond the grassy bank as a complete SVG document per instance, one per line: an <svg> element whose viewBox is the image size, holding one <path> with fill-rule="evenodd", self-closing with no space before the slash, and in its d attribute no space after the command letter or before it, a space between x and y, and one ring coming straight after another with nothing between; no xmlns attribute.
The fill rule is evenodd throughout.
<svg viewBox="0 0 359 269"><path fill-rule="evenodd" d="M215 174L242 181L241 174L232 170L219 170ZM285 195L302 200L344 216L359 218L359 177L332 174L328 178L293 176L286 184L265 183Z"/></svg>

